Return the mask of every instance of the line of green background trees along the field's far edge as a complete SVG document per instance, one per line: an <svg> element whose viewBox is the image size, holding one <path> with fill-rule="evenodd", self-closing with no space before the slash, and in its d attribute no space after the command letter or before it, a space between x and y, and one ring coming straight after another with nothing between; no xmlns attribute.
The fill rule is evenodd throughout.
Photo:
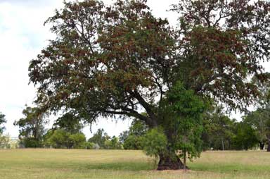
<svg viewBox="0 0 270 179"><path fill-rule="evenodd" d="M156 142L155 147L160 147L159 143L162 142L162 137L156 137L158 134L155 131L151 131L146 123L136 118L133 119L129 130L123 131L118 137L110 137L103 129L98 129L89 140L86 140L84 133L82 133L84 124L72 113L66 113L58 118L53 128L46 131L44 130L46 125L44 116L41 119L33 115L37 112L35 108L27 107L26 110L28 113L23 111L26 115L25 118L15 122L15 125L20 124L20 144L22 147L147 151L147 142ZM269 113L269 109L259 108L256 111L247 112L242 121L236 121L236 119L229 118L221 106L212 106L203 116L203 134L201 135L203 150L259 148L269 151ZM155 149L155 147L153 148Z"/></svg>

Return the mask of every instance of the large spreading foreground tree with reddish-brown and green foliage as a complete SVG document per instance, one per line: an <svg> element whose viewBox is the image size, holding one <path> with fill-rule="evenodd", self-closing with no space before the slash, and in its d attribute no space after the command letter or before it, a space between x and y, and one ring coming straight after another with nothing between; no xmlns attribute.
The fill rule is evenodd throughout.
<svg viewBox="0 0 270 179"><path fill-rule="evenodd" d="M161 155L160 168L184 165L169 145L174 133L183 131L167 128L181 118L159 112L166 107L175 115L192 116L191 121L199 119L169 101L175 99L169 94L176 84L190 90L186 94L195 101L198 95L212 97L243 109L257 96L248 76L265 79L259 62L268 60L270 52L267 1L182 0L174 6L181 24L176 30L166 19L155 18L146 0L64 4L46 20L56 39L30 63L37 103L44 110L77 113L89 123L99 116L120 116L164 128L169 152Z"/></svg>

